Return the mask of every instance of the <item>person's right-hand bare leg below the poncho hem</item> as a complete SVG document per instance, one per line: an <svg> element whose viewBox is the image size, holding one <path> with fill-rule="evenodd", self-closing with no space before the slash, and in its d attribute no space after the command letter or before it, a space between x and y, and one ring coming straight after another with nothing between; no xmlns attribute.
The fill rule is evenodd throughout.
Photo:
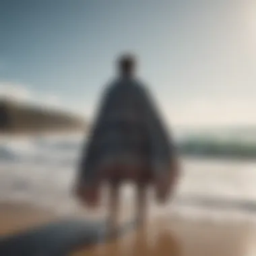
<svg viewBox="0 0 256 256"><path fill-rule="evenodd" d="M146 185L143 183L137 183L137 224L143 225L146 223Z"/></svg>

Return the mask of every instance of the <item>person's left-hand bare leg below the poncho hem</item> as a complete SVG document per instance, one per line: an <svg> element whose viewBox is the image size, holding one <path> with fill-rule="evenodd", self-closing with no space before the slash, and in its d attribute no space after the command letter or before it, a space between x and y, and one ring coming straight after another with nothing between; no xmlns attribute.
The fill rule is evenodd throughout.
<svg viewBox="0 0 256 256"><path fill-rule="evenodd" d="M110 183L110 198L109 198L109 228L110 234L114 235L119 224L119 182L112 181Z"/></svg>

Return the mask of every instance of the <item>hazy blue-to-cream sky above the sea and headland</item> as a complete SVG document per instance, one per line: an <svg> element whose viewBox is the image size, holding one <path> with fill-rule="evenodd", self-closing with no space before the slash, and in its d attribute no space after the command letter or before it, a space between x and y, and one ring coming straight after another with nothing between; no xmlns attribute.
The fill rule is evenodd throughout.
<svg viewBox="0 0 256 256"><path fill-rule="evenodd" d="M256 124L253 0L0 1L0 94L90 116L123 51L168 123Z"/></svg>

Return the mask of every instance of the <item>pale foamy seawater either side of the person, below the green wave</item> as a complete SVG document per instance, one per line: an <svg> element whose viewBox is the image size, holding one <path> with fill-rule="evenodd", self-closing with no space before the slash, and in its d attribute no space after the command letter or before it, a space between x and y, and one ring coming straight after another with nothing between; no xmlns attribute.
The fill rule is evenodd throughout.
<svg viewBox="0 0 256 256"><path fill-rule="evenodd" d="M82 135L2 137L0 201L32 203L57 214L73 214L79 203L72 193ZM156 205L154 214L210 221L256 220L256 160L181 158L182 174L174 199ZM123 198L131 198L131 185Z"/></svg>

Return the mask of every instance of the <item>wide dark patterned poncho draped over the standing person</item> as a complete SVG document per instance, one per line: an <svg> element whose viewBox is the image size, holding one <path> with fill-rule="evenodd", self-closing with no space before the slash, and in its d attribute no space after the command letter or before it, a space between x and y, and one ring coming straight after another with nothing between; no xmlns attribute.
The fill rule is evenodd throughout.
<svg viewBox="0 0 256 256"><path fill-rule="evenodd" d="M171 142L143 84L129 77L117 79L103 94L82 152L78 182L96 195L101 181L111 179L109 168L119 166L117 177L134 181L136 177L129 172L143 169L160 197L166 197L174 159Z"/></svg>

